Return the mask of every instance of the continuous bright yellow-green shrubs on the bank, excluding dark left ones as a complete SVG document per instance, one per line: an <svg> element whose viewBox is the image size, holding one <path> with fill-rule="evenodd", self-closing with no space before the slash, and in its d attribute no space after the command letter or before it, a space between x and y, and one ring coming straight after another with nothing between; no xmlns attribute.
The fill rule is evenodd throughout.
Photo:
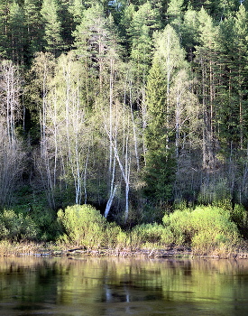
<svg viewBox="0 0 248 316"><path fill-rule="evenodd" d="M129 232L108 224L99 211L87 205L69 207L64 212L60 210L58 218L65 231L64 241L90 248L137 248L173 243L206 252L233 246L239 241L231 211L217 206L176 209L164 216L163 225L142 224Z"/></svg>

